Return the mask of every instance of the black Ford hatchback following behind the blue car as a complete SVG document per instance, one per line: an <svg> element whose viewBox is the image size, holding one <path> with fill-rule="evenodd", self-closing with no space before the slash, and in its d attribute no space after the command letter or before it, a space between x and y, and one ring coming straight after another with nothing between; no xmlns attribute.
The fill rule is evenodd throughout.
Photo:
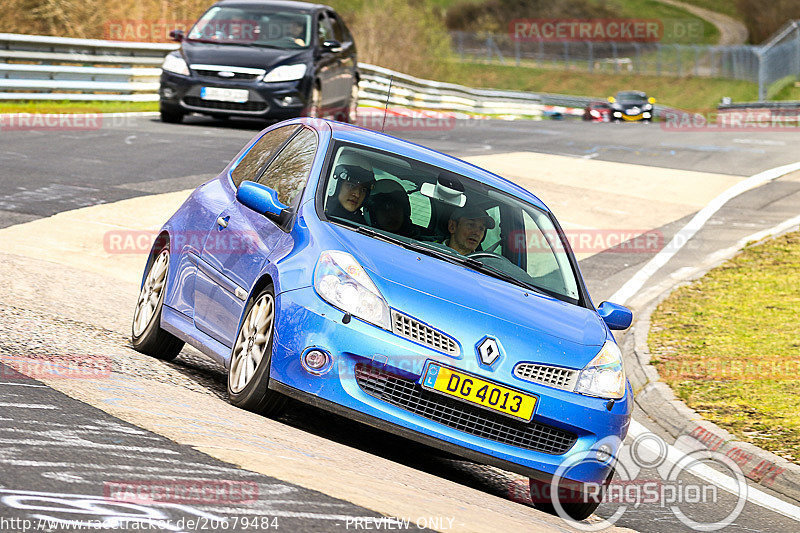
<svg viewBox="0 0 800 533"><path fill-rule="evenodd" d="M356 46L328 6L305 2L223 0L164 59L164 122L188 113L286 119L334 116L354 122Z"/></svg>

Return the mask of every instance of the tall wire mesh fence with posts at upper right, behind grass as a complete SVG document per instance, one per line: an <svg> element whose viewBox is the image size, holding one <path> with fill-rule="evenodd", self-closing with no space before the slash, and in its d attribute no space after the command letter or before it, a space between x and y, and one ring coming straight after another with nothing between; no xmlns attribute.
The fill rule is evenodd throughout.
<svg viewBox="0 0 800 533"><path fill-rule="evenodd" d="M761 46L713 46L659 42L515 40L509 34L452 32L464 61L590 73L723 78L759 83L759 99L800 79L800 21L792 21ZM775 84L778 84L777 86Z"/></svg>

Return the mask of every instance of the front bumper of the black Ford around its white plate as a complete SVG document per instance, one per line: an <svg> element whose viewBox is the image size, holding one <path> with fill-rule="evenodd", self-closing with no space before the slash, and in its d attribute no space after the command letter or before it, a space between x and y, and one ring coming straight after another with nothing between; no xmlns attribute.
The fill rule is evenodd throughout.
<svg viewBox="0 0 800 533"><path fill-rule="evenodd" d="M201 98L203 87L244 89L247 102L222 102ZM183 76L163 71L159 90L162 110L255 118L287 119L301 116L308 106L311 81L264 83L254 80L225 80L192 74Z"/></svg>

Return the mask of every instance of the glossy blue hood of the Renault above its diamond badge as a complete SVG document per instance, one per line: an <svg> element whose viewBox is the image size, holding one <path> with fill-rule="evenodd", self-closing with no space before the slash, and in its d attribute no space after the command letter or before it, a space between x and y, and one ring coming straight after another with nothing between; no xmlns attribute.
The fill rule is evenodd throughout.
<svg viewBox="0 0 800 533"><path fill-rule="evenodd" d="M607 339L594 311L331 225L389 306L454 337L495 337L516 361L583 368Z"/></svg>

